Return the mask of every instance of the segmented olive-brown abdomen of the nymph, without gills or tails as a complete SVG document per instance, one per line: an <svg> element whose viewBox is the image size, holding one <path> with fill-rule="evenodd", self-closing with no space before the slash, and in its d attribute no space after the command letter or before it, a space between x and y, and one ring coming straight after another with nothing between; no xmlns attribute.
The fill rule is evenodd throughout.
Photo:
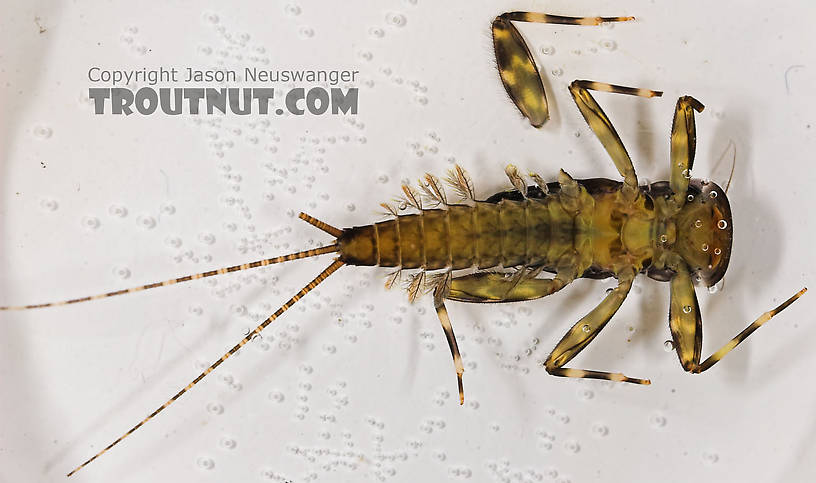
<svg viewBox="0 0 816 483"><path fill-rule="evenodd" d="M454 270L553 266L575 246L574 217L558 196L450 205L344 230L340 259L352 265Z"/></svg>

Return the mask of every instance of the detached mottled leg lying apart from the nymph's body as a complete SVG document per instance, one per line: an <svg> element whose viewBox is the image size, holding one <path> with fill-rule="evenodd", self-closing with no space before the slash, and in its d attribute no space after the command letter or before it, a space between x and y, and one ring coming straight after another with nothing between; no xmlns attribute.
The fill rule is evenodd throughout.
<svg viewBox="0 0 816 483"><path fill-rule="evenodd" d="M493 50L502 84L530 124L541 127L549 119L547 95L530 48L512 21L564 25L600 25L634 17L562 17L531 12L508 12L493 20Z"/></svg>

